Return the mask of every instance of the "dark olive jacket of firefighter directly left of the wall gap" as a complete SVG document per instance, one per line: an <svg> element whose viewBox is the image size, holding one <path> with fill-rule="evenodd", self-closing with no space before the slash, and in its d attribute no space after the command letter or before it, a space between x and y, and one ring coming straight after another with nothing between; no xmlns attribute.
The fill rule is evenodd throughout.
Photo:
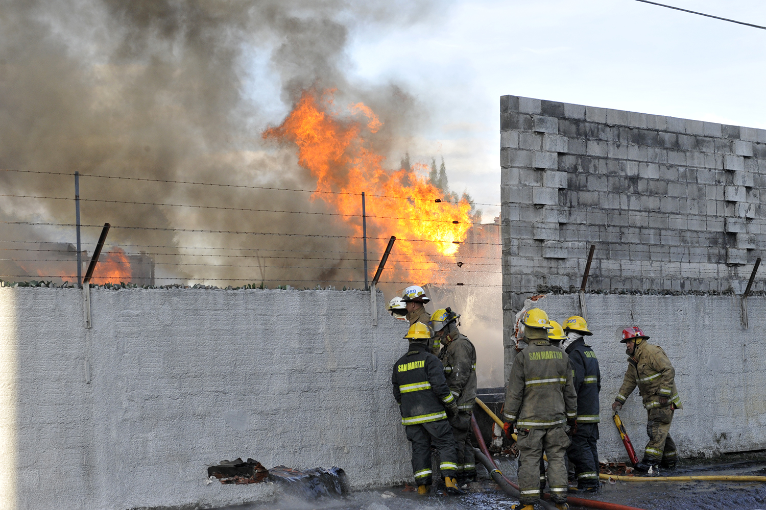
<svg viewBox="0 0 766 510"><path fill-rule="evenodd" d="M476 349L463 333L439 352L444 365L444 377L450 392L457 398L457 408L465 413L473 411L476 401Z"/></svg>

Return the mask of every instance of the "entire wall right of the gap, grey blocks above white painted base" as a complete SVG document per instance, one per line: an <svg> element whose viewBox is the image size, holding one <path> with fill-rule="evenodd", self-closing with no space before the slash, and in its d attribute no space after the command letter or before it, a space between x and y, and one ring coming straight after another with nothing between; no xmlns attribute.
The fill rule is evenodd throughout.
<svg viewBox="0 0 766 510"><path fill-rule="evenodd" d="M518 96L500 99L506 378L525 297L552 319L580 314L589 246L588 337L601 362L601 456L624 458L611 402L627 369L625 326L665 349L684 404L683 455L766 447L764 278L741 300L766 248L766 131ZM558 294L558 295L555 295ZM624 414L645 442L633 395Z"/></svg>

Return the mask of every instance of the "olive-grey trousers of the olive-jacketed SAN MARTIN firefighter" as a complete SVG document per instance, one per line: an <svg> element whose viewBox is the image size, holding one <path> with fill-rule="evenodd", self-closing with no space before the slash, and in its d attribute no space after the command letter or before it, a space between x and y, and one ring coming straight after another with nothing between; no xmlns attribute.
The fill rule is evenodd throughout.
<svg viewBox="0 0 766 510"><path fill-rule="evenodd" d="M522 505L534 505L540 499L540 461L548 454L548 486L555 503L567 501L567 468L564 456L569 437L564 427L519 430L519 489Z"/></svg>

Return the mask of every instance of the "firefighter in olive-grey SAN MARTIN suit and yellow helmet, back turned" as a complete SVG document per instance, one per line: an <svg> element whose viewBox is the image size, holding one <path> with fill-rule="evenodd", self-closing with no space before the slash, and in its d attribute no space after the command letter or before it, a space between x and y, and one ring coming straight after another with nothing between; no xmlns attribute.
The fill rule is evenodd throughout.
<svg viewBox="0 0 766 510"><path fill-rule="evenodd" d="M527 310L522 321L528 346L516 355L506 387L502 418L516 428L519 448L519 510L533 510L540 499L540 461L548 454L548 485L556 508L567 505L565 425L576 427L577 395L566 352L548 340L551 325L539 308Z"/></svg>

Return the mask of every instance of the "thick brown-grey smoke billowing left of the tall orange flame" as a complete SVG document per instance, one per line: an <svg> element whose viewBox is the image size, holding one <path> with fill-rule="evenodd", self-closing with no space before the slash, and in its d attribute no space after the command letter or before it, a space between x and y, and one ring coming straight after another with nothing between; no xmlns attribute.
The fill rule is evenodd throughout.
<svg viewBox="0 0 766 510"><path fill-rule="evenodd" d="M79 171L311 190L315 183L296 163L294 151L275 148L260 137L267 123L280 122L273 118L280 102L284 115L310 88L334 88L339 102L371 106L384 122L376 150L402 154L402 140L421 122L423 112L394 84L352 83L345 49L359 26L385 29L416 23L430 16L434 5L427 0L4 2L0 169L11 171L0 172L2 194L74 196L72 177L14 171ZM277 76L277 90L267 85L270 76ZM332 216L150 205L332 212L321 200L310 200L309 193L94 177L82 177L80 187L84 224L349 233ZM71 200L3 197L0 203L5 221L74 223ZM83 230L85 249L92 249L98 233L97 228ZM10 241L30 239L74 243L74 229L0 224L2 248L18 246ZM158 276L197 281L282 279L303 286L304 280L359 278L347 268L362 267L361 261L351 260L360 254L345 253L361 251L361 243L338 239L113 229L109 242L129 252L168 254L155 255ZM4 253L23 257L23 252ZM306 256L334 260L299 259Z"/></svg>

